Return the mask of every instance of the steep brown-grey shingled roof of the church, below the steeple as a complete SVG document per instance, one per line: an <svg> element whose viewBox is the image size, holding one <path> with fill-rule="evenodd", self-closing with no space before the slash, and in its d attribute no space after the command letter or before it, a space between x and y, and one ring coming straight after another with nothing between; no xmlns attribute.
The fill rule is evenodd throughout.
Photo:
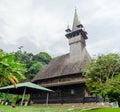
<svg viewBox="0 0 120 112"><path fill-rule="evenodd" d="M48 65L38 72L32 81L34 82L42 79L81 73L90 60L91 59L87 51L85 51L85 57L82 62L71 62L69 54L58 56L52 59Z"/></svg>

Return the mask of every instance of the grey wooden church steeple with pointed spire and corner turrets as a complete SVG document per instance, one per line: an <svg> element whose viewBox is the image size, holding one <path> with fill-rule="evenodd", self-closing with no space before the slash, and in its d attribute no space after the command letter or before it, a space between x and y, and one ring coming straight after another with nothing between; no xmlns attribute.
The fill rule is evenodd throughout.
<svg viewBox="0 0 120 112"><path fill-rule="evenodd" d="M66 37L69 41L70 46L70 60L81 61L85 57L86 52L86 39L87 32L84 30L83 25L80 23L75 9L72 30L67 27Z"/></svg>

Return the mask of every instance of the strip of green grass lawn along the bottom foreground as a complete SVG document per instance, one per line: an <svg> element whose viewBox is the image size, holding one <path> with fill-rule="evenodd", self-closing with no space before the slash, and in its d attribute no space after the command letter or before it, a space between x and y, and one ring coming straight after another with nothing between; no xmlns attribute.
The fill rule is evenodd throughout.
<svg viewBox="0 0 120 112"><path fill-rule="evenodd" d="M0 112L120 112L120 108L86 110L79 107L46 107L46 106L1 106Z"/></svg>

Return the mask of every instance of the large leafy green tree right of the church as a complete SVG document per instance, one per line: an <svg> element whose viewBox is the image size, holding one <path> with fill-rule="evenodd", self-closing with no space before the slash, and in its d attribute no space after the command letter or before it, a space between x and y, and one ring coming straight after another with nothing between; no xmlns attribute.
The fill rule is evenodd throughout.
<svg viewBox="0 0 120 112"><path fill-rule="evenodd" d="M109 101L118 101L120 106L120 55L101 55L84 70L86 85L95 93Z"/></svg>

